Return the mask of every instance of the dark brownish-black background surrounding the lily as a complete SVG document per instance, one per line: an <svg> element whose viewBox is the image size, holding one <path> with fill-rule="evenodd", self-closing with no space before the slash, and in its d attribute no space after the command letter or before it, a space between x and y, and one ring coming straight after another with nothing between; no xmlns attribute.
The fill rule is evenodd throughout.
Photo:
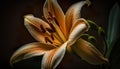
<svg viewBox="0 0 120 69"><path fill-rule="evenodd" d="M58 0L64 12L73 3L80 0ZM90 7L83 7L82 17L95 21L107 31L108 15L112 5L118 0L91 0ZM9 59L13 52L21 45L35 41L24 27L23 16L25 14L34 14L41 17L44 0L4 0L0 2L0 27L1 27L1 44L0 44L0 67L3 69L12 69L9 65ZM120 47L113 48L110 60L114 65L109 69L117 69L120 65ZM101 47L99 48L101 49ZM90 65L81 61L78 57L66 54L57 69L99 69L100 66ZM114 59L114 61L112 60ZM39 61L39 62L38 62ZM13 67L14 69L40 69L41 57L35 57L21 61ZM115 68L116 67L116 68ZM118 68L119 69L119 68Z"/></svg>

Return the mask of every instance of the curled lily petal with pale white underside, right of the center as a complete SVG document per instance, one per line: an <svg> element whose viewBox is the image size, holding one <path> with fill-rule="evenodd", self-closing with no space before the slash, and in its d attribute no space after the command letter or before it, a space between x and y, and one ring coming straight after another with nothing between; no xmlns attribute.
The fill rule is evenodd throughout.
<svg viewBox="0 0 120 69"><path fill-rule="evenodd" d="M72 26L68 42L74 44L74 42L80 38L81 34L89 29L89 25L85 19L78 19Z"/></svg>

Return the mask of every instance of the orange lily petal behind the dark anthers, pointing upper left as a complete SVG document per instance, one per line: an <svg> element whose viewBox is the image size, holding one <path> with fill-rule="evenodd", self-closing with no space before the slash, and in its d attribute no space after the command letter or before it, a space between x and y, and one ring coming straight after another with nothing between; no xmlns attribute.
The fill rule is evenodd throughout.
<svg viewBox="0 0 120 69"><path fill-rule="evenodd" d="M51 30L49 24L44 22L43 20L34 17L33 15L26 15L25 16L25 26L30 32L30 34L38 41L46 43L46 39L49 40L50 43L59 44L57 39L52 39L51 33L47 30Z"/></svg>

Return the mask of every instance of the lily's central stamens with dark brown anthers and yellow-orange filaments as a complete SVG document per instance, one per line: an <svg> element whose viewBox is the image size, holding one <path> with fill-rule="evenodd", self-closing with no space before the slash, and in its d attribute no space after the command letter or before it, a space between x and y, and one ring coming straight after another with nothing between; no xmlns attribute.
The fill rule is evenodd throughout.
<svg viewBox="0 0 120 69"><path fill-rule="evenodd" d="M45 41L52 44L54 43L54 39L56 38L60 42L60 44L62 44L66 41L63 31L61 31L56 18L50 12L48 13L49 13L48 18L43 17L43 19L49 24L51 28L44 29L43 26L40 25L40 28L42 29L43 33L48 31L51 34L50 39L48 37L45 37Z"/></svg>

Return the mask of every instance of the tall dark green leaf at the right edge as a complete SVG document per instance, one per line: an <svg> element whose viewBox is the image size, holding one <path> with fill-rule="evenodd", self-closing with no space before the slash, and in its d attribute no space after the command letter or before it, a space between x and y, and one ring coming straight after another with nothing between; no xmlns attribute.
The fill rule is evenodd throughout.
<svg viewBox="0 0 120 69"><path fill-rule="evenodd" d="M120 36L120 7L119 4L116 3L109 14L109 23L108 23L108 33L107 33L107 44L108 44L108 52L106 57L109 57L110 52L116 43L117 38Z"/></svg>

